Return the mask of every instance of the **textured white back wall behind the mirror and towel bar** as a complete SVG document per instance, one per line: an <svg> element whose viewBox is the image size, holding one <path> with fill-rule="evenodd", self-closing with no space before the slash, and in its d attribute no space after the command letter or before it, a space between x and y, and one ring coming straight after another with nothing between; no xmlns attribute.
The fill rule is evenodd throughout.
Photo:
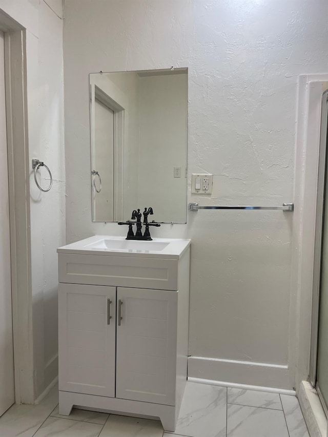
<svg viewBox="0 0 328 437"><path fill-rule="evenodd" d="M188 180L214 182L210 199L189 185L188 201L293 201L297 81L327 69L325 0L65 5L68 242L122 233L91 222L88 74L100 70L189 67ZM191 359L191 376L293 386L291 224L282 212L199 211L153 231L192 239L189 352L214 360Z"/></svg>

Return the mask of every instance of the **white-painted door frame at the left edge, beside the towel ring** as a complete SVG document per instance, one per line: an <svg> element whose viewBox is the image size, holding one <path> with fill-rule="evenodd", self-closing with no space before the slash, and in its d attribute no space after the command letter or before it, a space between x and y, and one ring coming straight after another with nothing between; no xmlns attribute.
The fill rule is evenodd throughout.
<svg viewBox="0 0 328 437"><path fill-rule="evenodd" d="M26 29L0 10L5 77L15 402L34 402Z"/></svg>

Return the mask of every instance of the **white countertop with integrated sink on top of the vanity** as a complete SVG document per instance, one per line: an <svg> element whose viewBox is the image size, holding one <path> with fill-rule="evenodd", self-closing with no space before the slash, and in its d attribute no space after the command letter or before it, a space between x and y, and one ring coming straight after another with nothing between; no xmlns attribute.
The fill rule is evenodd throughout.
<svg viewBox="0 0 328 437"><path fill-rule="evenodd" d="M58 253L107 255L141 258L179 259L190 240L153 238L152 241L126 240L125 237L94 235L57 249Z"/></svg>

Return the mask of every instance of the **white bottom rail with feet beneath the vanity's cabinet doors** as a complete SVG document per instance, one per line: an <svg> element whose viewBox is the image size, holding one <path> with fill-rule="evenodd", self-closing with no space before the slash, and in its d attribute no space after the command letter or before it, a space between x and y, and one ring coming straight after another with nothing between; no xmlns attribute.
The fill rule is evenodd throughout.
<svg viewBox="0 0 328 437"><path fill-rule="evenodd" d="M68 416L73 406L113 414L157 418L165 431L175 431L176 407L174 405L151 404L59 390L59 414Z"/></svg>

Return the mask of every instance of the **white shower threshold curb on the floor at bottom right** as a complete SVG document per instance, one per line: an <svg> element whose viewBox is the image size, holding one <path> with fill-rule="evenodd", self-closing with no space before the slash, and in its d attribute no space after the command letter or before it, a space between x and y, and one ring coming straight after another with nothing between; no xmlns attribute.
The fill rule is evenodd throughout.
<svg viewBox="0 0 328 437"><path fill-rule="evenodd" d="M311 437L326 437L327 419L317 390L312 387L310 382L301 382L298 400Z"/></svg>

